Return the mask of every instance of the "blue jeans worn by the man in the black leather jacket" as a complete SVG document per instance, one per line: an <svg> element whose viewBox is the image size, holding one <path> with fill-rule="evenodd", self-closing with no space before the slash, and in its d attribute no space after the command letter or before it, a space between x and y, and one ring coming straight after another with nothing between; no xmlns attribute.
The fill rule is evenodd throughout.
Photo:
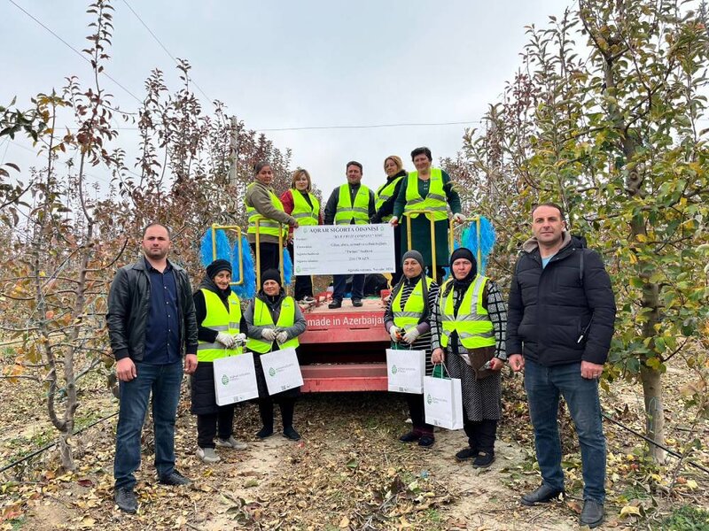
<svg viewBox="0 0 709 531"><path fill-rule="evenodd" d="M140 466L140 435L148 398L152 391L152 421L155 431L155 468L158 477L175 470L175 416L183 381L183 363L152 365L136 362L137 376L121 381L116 456L113 463L115 488L136 485L134 472Z"/></svg>

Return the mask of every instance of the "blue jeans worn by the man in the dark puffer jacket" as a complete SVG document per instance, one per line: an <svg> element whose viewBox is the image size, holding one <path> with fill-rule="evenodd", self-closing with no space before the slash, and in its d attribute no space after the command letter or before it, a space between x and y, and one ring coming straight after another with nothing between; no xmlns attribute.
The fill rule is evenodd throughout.
<svg viewBox="0 0 709 531"><path fill-rule="evenodd" d="M525 389L542 482L551 489L564 489L557 422L559 396L564 396L579 435L583 499L603 504L605 437L598 381L581 378L580 362L545 367L526 360Z"/></svg>

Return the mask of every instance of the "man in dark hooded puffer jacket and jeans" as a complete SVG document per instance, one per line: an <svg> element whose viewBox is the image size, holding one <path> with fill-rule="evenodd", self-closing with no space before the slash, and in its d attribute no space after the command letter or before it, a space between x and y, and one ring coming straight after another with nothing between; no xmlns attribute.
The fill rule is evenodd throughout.
<svg viewBox="0 0 709 531"><path fill-rule="evenodd" d="M557 204L532 212L534 238L523 246L510 287L507 356L525 368L525 389L541 470L539 489L522 504L564 493L557 412L564 396L579 435L583 466L582 526L604 519L605 437L598 397L615 322L615 298L603 261L565 230Z"/></svg>

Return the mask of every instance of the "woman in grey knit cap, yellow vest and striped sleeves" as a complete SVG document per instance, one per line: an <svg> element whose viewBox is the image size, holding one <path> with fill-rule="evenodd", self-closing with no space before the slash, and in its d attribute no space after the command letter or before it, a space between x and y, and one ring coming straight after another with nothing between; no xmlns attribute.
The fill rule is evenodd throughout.
<svg viewBox="0 0 709 531"><path fill-rule="evenodd" d="M384 314L384 326L392 336L392 349L424 350L425 372L430 375L431 325L429 318L438 297L438 284L425 273L424 258L417 250L409 250L401 257L403 275L394 286ZM413 429L399 437L402 443L418 441L419 446L435 443L433 427L425 423L424 395L405 393Z"/></svg>

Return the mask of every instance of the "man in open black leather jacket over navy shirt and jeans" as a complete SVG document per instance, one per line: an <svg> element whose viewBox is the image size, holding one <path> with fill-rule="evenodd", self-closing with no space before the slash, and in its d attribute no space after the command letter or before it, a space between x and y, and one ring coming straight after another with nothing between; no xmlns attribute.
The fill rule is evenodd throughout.
<svg viewBox="0 0 709 531"><path fill-rule="evenodd" d="M160 483L190 482L175 470L175 416L184 372L197 368L197 320L187 272L168 260L170 234L153 223L143 233L144 257L116 273L108 294L108 335L120 383L116 454L116 504L136 512L134 472L152 391L155 468Z"/></svg>

